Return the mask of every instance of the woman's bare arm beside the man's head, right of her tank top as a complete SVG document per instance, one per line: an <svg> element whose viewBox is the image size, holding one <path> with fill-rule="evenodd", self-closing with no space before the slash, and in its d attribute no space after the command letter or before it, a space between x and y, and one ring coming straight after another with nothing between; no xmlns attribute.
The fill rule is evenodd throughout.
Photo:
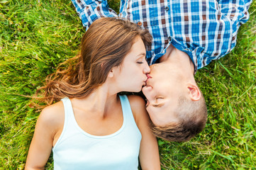
<svg viewBox="0 0 256 170"><path fill-rule="evenodd" d="M140 166L144 169L161 169L157 139L149 128L149 116L145 101L140 96L128 96L135 122L140 129Z"/></svg>

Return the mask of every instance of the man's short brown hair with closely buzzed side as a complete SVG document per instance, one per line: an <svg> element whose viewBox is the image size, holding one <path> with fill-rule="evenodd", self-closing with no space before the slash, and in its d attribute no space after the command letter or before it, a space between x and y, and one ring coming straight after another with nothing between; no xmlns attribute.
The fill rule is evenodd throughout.
<svg viewBox="0 0 256 170"><path fill-rule="evenodd" d="M191 101L184 96L179 97L177 109L172 114L177 117L178 121L163 127L150 123L154 135L172 142L190 140L206 125L207 107L203 94L201 93L199 101Z"/></svg>

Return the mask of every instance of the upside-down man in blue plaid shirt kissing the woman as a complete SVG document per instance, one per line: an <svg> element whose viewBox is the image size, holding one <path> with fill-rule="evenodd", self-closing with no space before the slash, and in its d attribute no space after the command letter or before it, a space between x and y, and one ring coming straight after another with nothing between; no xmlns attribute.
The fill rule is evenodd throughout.
<svg viewBox="0 0 256 170"><path fill-rule="evenodd" d="M97 18L119 16L150 31L143 94L155 135L187 141L204 129L206 103L194 74L233 50L252 0L121 0L118 15L104 0L72 2L86 28Z"/></svg>

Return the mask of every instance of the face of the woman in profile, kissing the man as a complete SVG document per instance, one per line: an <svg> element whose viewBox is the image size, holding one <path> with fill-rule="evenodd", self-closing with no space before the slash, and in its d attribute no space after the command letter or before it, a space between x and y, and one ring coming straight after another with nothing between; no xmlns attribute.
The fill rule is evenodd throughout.
<svg viewBox="0 0 256 170"><path fill-rule="evenodd" d="M139 92L148 77L150 67L145 60L146 50L141 38L135 38L130 52L120 66L115 67L116 85L121 91ZM116 86L115 85L115 86Z"/></svg>

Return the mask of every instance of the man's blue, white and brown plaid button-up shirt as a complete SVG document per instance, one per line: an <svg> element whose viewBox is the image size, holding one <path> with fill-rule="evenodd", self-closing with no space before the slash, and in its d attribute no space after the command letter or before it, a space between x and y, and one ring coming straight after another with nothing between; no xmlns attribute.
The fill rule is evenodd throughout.
<svg viewBox="0 0 256 170"><path fill-rule="evenodd" d="M100 17L122 17L152 35L149 64L172 43L194 62L195 72L235 47L238 28L249 19L252 0L121 0L119 14L104 0L72 0L83 26Z"/></svg>

